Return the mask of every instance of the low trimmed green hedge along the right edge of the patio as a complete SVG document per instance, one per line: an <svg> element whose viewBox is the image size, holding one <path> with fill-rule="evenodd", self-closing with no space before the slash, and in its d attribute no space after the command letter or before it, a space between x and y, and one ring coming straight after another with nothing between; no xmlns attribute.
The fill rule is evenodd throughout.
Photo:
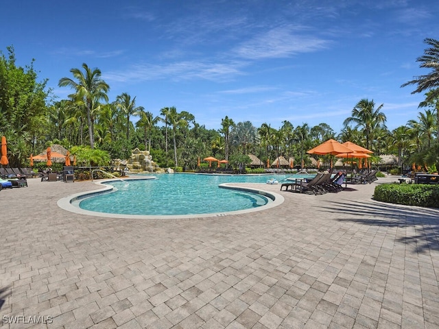
<svg viewBox="0 0 439 329"><path fill-rule="evenodd" d="M375 187L373 198L392 204L439 208L439 185L381 184Z"/></svg>

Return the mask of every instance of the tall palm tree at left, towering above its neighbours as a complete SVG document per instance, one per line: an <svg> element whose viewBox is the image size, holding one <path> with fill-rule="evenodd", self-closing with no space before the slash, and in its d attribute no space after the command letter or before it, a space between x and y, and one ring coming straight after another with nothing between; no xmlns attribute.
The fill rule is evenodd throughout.
<svg viewBox="0 0 439 329"><path fill-rule="evenodd" d="M110 86L101 79L101 71L99 69L90 69L87 64L82 64L82 69L71 69L70 72L77 81L71 80L69 77L62 77L58 82L60 87L71 87L75 89L75 94L69 95L72 99L81 100L86 108L88 121L88 137L90 138L90 147L95 147L94 140L94 118L93 112L101 99L108 101L108 90Z"/></svg>

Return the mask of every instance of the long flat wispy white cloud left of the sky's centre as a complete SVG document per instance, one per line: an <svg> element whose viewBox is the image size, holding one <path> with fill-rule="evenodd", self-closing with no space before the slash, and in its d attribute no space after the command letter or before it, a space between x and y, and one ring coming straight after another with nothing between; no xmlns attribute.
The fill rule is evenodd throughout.
<svg viewBox="0 0 439 329"><path fill-rule="evenodd" d="M112 71L103 75L109 82L139 82L149 80L171 79L228 81L237 75L243 75L243 62L208 63L208 62L174 62L171 64L137 64L125 71Z"/></svg>

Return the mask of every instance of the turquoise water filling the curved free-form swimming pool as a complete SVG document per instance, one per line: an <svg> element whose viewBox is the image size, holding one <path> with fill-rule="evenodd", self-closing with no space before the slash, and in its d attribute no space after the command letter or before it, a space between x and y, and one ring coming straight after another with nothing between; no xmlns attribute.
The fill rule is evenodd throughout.
<svg viewBox="0 0 439 329"><path fill-rule="evenodd" d="M192 175L158 174L154 180L119 180L111 184L113 193L103 193L80 201L80 208L123 215L193 215L230 212L264 206L271 199L256 193L219 188L222 183L265 183L292 175Z"/></svg>

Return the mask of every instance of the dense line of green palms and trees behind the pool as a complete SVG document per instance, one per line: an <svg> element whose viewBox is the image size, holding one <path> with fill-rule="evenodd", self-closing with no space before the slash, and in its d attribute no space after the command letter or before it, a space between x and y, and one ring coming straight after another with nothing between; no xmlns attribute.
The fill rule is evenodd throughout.
<svg viewBox="0 0 439 329"><path fill-rule="evenodd" d="M148 150L160 167L195 169L198 157L224 158L230 165L254 154L264 163L278 156L294 157L296 164L309 164L306 153L329 138L351 141L380 154L394 154L403 164L439 165L439 41L425 39L429 48L417 61L426 75L403 86L416 85L412 93L425 92L418 117L390 131L384 104L360 99L351 116L336 133L327 123L310 127L283 121L281 127L250 121L235 122L224 117L219 130L209 130L193 114L163 107L154 115L139 106L136 97L122 93L108 99L110 86L97 68L82 64L71 69L58 85L69 88L67 99L54 99L47 80L38 81L31 64L16 65L14 48L0 57L0 135L8 140L11 167L23 167L30 154L58 143L78 156L84 165L108 165L114 159L129 158L132 149ZM138 120L134 124L132 118ZM322 157L322 160L327 160ZM403 163L404 162L404 163Z"/></svg>

